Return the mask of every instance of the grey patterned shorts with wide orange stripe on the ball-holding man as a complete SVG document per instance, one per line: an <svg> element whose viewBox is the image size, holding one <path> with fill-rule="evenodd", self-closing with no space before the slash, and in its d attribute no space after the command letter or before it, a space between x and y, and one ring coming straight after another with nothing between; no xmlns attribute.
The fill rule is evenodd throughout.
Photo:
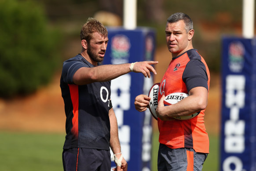
<svg viewBox="0 0 256 171"><path fill-rule="evenodd" d="M190 148L171 149L160 144L157 169L158 171L201 171L207 155L207 153L197 153Z"/></svg>

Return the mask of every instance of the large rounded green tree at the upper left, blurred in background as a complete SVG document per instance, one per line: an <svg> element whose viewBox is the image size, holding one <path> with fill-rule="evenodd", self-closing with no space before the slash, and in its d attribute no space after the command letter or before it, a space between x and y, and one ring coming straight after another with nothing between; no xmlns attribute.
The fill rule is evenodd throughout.
<svg viewBox="0 0 256 171"><path fill-rule="evenodd" d="M0 97L27 95L56 69L60 34L31 0L0 0Z"/></svg>

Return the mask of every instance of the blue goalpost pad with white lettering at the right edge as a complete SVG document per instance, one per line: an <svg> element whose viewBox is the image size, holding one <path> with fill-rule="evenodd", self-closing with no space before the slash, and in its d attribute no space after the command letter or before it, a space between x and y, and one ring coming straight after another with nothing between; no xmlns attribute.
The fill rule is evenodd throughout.
<svg viewBox="0 0 256 171"><path fill-rule="evenodd" d="M256 44L224 37L221 171L256 170Z"/></svg>

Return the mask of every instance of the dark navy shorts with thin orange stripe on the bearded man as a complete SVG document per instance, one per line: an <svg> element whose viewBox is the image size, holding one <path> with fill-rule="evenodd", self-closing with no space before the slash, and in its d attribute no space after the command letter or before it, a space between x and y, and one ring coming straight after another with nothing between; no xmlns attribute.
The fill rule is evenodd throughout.
<svg viewBox="0 0 256 171"><path fill-rule="evenodd" d="M110 171L110 150L63 149L62 162L64 171Z"/></svg>

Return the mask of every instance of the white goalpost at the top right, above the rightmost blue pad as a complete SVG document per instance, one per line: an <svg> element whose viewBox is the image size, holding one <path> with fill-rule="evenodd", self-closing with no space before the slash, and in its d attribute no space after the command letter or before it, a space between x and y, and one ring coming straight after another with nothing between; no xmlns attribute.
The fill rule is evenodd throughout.
<svg viewBox="0 0 256 171"><path fill-rule="evenodd" d="M243 0L242 33L248 39L254 37L254 1Z"/></svg>

